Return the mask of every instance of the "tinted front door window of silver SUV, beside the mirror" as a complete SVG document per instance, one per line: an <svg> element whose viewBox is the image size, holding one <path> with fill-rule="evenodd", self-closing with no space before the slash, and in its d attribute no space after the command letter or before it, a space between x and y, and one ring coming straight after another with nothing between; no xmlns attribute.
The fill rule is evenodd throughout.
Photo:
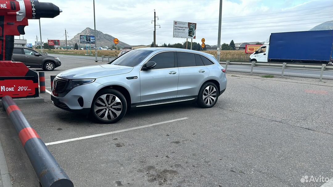
<svg viewBox="0 0 333 187"><path fill-rule="evenodd" d="M155 55L149 61L156 62L156 69L174 68L174 53L173 52L163 52Z"/></svg>

